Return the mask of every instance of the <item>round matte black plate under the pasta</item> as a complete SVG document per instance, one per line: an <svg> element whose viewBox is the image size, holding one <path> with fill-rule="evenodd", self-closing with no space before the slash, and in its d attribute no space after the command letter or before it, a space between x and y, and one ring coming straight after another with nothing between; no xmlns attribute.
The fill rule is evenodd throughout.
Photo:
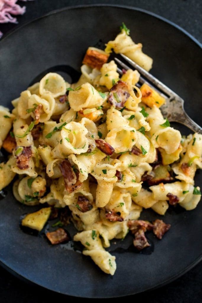
<svg viewBox="0 0 202 303"><path fill-rule="evenodd" d="M114 6L66 8L39 18L5 36L0 42L0 100L10 101L39 74L64 65L79 71L89 45L114 39L121 22L135 42L154 59L152 73L185 100L187 113L200 124L201 49L194 39L166 20L140 9ZM60 67L58 67L60 66ZM63 66L61 68L61 66ZM186 128L181 128L188 133ZM201 185L197 173L195 184ZM63 294L105 298L135 294L166 284L200 261L202 255L202 203L193 211L168 211L164 221L171 230L159 241L149 236L154 252L115 252L117 270L104 274L90 258L51 246L43 237L23 233L20 215L34 211L15 201L11 186L0 202L0 261L18 275ZM144 211L142 218L161 218ZM129 238L121 242L125 247ZM120 245L120 244L119 244ZM113 248L114 249L114 248Z"/></svg>

